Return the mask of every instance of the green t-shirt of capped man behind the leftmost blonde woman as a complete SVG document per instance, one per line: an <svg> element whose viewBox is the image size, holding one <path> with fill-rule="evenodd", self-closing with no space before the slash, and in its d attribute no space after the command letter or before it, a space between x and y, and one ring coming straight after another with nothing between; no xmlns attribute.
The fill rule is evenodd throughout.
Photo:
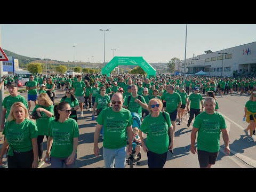
<svg viewBox="0 0 256 192"><path fill-rule="evenodd" d="M25 97L23 97L21 95L12 97L11 95L9 95L6 98L4 98L3 103L2 103L2 106L4 106L4 108L6 109L6 114L5 114L6 119L8 118L8 115L10 113L13 103L15 103L15 102L22 102L28 109L28 102L26 101Z"/></svg>

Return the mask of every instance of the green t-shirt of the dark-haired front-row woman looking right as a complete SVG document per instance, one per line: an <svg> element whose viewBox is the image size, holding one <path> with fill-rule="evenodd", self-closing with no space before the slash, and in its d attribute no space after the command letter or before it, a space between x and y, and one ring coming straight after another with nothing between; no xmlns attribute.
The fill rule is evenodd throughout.
<svg viewBox="0 0 256 192"><path fill-rule="evenodd" d="M74 119L67 121L51 121L49 136L53 138L51 156L66 158L73 152L74 138L79 136L78 125Z"/></svg>

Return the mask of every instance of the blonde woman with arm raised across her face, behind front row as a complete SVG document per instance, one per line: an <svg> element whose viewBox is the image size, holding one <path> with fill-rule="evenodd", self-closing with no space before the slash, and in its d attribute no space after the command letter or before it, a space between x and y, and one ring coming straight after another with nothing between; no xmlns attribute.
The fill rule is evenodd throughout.
<svg viewBox="0 0 256 192"><path fill-rule="evenodd" d="M35 106L32 114L38 112L41 114L41 118L36 119L36 125L38 129L37 145L38 145L38 167L40 168L43 164L43 140L44 136L46 139L49 137L49 124L54 119L54 111L52 100L46 93L41 93L37 97L38 104Z"/></svg>

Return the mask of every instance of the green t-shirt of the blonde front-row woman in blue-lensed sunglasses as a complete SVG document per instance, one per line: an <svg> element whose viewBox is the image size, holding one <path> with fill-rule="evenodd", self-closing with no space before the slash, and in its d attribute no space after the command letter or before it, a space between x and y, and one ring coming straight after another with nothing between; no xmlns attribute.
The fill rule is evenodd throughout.
<svg viewBox="0 0 256 192"><path fill-rule="evenodd" d="M165 153L169 147L168 124L171 125L171 119L168 113L163 113L165 113L168 123L166 123L162 112L160 112L158 117L146 116L140 126L140 130L147 133L147 148L157 154Z"/></svg>

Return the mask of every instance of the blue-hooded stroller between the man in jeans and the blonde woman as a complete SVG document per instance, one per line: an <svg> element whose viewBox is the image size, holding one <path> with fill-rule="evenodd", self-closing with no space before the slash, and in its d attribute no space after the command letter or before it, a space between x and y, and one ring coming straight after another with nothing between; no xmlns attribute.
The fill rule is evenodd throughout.
<svg viewBox="0 0 256 192"><path fill-rule="evenodd" d="M138 113L132 112L132 127L138 127L140 129L140 125L141 125L141 119L140 116L138 115ZM129 142L127 141L127 145L129 145ZM140 145L141 143L136 142L136 145ZM141 153L138 154L137 159L134 160L133 158L133 154L135 153L135 150L132 150L131 155L126 159L126 163L128 165L130 165L130 168L133 168L133 165L136 163L137 165L140 165L140 159L141 159Z"/></svg>

